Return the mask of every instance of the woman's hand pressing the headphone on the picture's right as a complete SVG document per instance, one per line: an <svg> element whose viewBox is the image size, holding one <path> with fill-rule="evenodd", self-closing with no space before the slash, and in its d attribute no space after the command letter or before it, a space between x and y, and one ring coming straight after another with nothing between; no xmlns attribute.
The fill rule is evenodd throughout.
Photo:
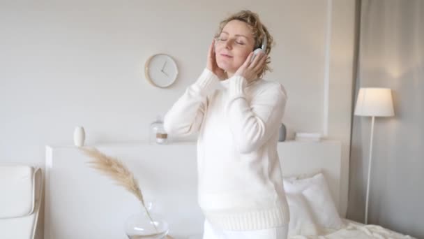
<svg viewBox="0 0 424 239"><path fill-rule="evenodd" d="M255 59L253 59L252 62L250 62L253 57L253 52L250 52L248 55L248 58L244 61L243 65L240 66L240 68L234 73L234 75L241 75L243 78L245 78L248 82L252 80L256 80L259 72L264 68L266 63L267 55L264 52L259 52Z"/></svg>

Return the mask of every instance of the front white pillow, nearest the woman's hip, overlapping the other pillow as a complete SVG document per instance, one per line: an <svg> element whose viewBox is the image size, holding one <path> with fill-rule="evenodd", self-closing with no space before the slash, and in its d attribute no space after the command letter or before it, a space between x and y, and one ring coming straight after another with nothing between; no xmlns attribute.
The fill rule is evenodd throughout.
<svg viewBox="0 0 424 239"><path fill-rule="evenodd" d="M286 194L290 210L289 236L319 235L308 203L302 194Z"/></svg>

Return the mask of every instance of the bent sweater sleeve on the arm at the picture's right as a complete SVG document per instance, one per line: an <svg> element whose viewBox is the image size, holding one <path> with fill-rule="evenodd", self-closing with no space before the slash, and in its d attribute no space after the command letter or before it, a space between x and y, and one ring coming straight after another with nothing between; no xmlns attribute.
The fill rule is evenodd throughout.
<svg viewBox="0 0 424 239"><path fill-rule="evenodd" d="M265 85L248 103L244 85L245 78L241 76L230 79L227 117L236 147L247 154L264 145L278 131L287 94L280 83L272 83Z"/></svg>

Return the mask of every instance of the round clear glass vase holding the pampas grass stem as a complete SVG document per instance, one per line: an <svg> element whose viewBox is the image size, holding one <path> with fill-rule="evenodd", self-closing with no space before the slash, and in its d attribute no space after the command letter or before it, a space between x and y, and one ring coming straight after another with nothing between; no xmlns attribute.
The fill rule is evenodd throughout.
<svg viewBox="0 0 424 239"><path fill-rule="evenodd" d="M169 228L167 222L153 211L153 203L146 203L146 209L130 215L125 222L125 231L129 239L164 239ZM149 213L147 213L149 212Z"/></svg>

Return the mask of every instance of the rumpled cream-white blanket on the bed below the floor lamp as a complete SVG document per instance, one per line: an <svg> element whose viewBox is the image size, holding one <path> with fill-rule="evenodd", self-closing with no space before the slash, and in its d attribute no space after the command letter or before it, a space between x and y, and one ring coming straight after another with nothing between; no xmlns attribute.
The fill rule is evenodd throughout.
<svg viewBox="0 0 424 239"><path fill-rule="evenodd" d="M394 231L384 229L377 225L365 225L343 219L345 227L338 231L329 231L325 236L292 236L290 239L335 239L335 238L355 238L355 239L412 239Z"/></svg>

